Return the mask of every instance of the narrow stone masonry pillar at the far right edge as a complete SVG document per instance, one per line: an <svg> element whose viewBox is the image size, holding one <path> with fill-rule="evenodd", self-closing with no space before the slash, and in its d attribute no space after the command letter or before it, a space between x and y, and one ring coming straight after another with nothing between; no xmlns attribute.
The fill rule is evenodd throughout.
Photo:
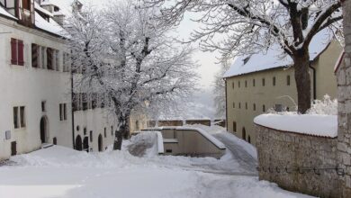
<svg viewBox="0 0 351 198"><path fill-rule="evenodd" d="M343 3L345 58L338 67L338 165L346 170L341 178L343 197L351 197L351 0Z"/></svg>

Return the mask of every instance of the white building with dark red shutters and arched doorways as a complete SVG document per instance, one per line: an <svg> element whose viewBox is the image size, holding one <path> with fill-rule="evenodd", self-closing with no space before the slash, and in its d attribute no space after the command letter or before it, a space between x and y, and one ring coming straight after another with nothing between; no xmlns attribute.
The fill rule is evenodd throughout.
<svg viewBox="0 0 351 198"><path fill-rule="evenodd" d="M64 30L39 3L0 0L0 160L44 143L102 151L114 139L103 108L72 111Z"/></svg>

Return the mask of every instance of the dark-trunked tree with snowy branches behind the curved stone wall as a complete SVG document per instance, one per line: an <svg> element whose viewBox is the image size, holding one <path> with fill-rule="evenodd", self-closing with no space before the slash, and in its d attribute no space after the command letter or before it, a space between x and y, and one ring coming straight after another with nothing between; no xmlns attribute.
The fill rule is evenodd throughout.
<svg viewBox="0 0 351 198"><path fill-rule="evenodd" d="M219 50L223 60L250 55L279 45L293 59L298 92L298 111L311 107L309 46L323 29L333 36L342 31L338 0L144 0L161 7L166 23L179 23L184 13L202 15L195 19L202 29L191 40L201 40L203 50ZM341 36L342 37L342 36ZM191 41L190 40L190 41ZM328 40L323 40L328 41Z"/></svg>

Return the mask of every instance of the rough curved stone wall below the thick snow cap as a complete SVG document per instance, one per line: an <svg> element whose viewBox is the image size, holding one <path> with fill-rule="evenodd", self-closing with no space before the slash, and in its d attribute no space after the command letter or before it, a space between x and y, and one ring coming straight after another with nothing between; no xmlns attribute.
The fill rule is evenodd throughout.
<svg viewBox="0 0 351 198"><path fill-rule="evenodd" d="M340 197L340 176L336 168L338 139L272 130L258 125L256 131L259 179L274 182L293 192Z"/></svg>

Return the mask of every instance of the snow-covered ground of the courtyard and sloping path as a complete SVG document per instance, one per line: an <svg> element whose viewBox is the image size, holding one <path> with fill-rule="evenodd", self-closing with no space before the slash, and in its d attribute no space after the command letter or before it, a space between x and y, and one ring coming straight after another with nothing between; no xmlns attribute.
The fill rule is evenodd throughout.
<svg viewBox="0 0 351 198"><path fill-rule="evenodd" d="M236 139L228 133L223 137ZM148 138L144 135L125 141L121 151L85 153L54 146L12 157L12 166L0 166L0 197L309 197L258 181L257 175L245 175L244 172L240 175L245 168L229 149L220 160L157 156L153 155L156 149L152 146L144 157L134 157L127 149L140 139ZM244 145L238 139L234 141ZM256 153L251 148L247 144L243 150L252 152L253 155L248 156L255 160Z"/></svg>

